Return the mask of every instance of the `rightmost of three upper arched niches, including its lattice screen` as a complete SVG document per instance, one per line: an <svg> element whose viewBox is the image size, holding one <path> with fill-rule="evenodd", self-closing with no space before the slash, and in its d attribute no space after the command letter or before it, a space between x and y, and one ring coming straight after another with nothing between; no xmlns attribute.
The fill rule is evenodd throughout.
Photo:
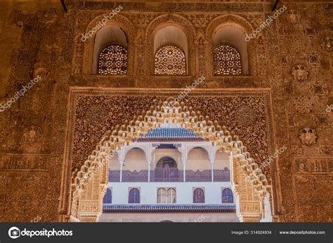
<svg viewBox="0 0 333 243"><path fill-rule="evenodd" d="M213 34L213 45L214 45L214 70L218 68L218 61L216 60L216 56L218 52L223 55L221 52L225 52L226 56L223 58L233 58L233 61L230 61L230 64L238 68L238 64L240 64L241 71L238 73L238 70L234 72L234 74L238 75L248 75L249 74L249 54L247 50L247 42L245 41L245 33L241 30L240 27L235 25L223 25L218 27ZM238 57L240 60L238 61ZM221 63L220 63L221 64ZM230 65L229 63L227 65ZM214 72L215 75L222 74L221 72ZM225 74L233 75L226 71Z"/></svg>

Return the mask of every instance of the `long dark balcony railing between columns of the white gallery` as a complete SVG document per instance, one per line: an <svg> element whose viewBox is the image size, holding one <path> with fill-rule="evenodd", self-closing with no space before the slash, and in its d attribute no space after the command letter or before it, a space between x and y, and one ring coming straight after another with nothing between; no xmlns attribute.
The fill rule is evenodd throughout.
<svg viewBox="0 0 333 243"><path fill-rule="evenodd" d="M230 181L230 170L213 170L214 182ZM185 170L186 182L211 182L211 170ZM109 170L109 182L120 181L120 170ZM148 170L122 170L122 182L148 182ZM183 182L183 170L156 168L150 170L150 182Z"/></svg>

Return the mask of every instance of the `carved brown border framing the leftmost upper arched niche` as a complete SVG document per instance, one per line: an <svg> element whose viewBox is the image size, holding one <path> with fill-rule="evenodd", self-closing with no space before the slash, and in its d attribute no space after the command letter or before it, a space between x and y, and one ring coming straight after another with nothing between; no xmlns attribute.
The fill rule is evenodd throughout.
<svg viewBox="0 0 333 243"><path fill-rule="evenodd" d="M96 23L99 23L103 20L105 13L98 15L96 18L90 21L89 25L87 25L85 33L92 30L93 27L96 26ZM122 28L125 32L127 38L127 75L133 74L133 66L134 66L134 39L135 39L135 30L133 29L133 23L131 20L124 17L117 13L115 17L111 20L107 21L106 25L117 25L118 27ZM93 47L94 47L94 40L96 37L96 33L93 34L93 37L89 38L86 42L84 42L84 54L83 54L83 65L82 65L82 74L83 75L92 75L92 63L93 63Z"/></svg>

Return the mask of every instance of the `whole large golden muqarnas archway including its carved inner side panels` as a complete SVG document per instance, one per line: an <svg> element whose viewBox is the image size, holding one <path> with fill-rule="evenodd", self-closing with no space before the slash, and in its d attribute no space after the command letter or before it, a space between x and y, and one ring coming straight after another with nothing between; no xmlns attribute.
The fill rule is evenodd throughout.
<svg viewBox="0 0 333 243"><path fill-rule="evenodd" d="M237 199L237 216L241 221L258 222L272 221L271 185L262 173L258 164L254 162L247 147L244 147L234 132L221 127L217 122L204 120L200 112L189 110L183 102L160 102L158 106L151 106L150 111L134 116L133 120L122 126L117 125L115 130L108 131L96 145L89 158L81 169L72 174L70 220L72 222L97 222L103 213L103 197L107 189L107 155L134 141L137 137L145 135L149 129L153 130L171 120L172 123L184 124L209 139L215 147L226 151L230 156L230 177L233 191ZM184 114L185 116L184 118ZM195 119L194 123L188 119ZM252 198L245 210L240 209L242 192L247 187L247 194ZM250 192L249 192L250 191Z"/></svg>

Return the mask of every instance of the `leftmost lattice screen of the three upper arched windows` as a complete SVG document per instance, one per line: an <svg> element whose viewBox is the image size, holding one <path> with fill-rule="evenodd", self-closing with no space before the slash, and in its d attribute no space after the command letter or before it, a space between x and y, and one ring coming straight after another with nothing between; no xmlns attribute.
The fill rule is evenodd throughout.
<svg viewBox="0 0 333 243"><path fill-rule="evenodd" d="M98 74L124 75L127 73L127 50L124 46L105 46L98 56Z"/></svg>

